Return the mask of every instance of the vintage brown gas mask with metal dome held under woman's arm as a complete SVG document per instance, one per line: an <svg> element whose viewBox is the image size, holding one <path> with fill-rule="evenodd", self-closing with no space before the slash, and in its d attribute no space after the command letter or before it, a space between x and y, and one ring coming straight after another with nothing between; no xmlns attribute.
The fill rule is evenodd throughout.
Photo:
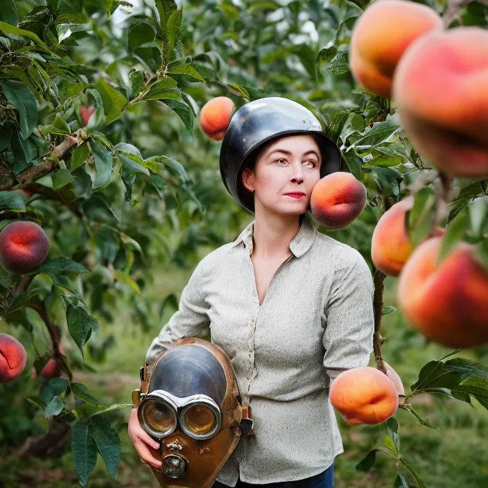
<svg viewBox="0 0 488 488"><path fill-rule="evenodd" d="M241 435L254 435L229 358L198 338L175 340L132 392L139 424L161 442L162 467L150 467L165 488L208 488Z"/></svg>

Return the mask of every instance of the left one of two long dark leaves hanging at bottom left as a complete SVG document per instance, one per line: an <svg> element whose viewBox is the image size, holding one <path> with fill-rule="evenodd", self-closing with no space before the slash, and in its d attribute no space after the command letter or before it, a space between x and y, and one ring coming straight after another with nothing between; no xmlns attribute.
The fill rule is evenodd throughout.
<svg viewBox="0 0 488 488"><path fill-rule="evenodd" d="M98 451L95 439L88 434L88 425L82 419L71 426L71 453L76 473L85 488L90 473L95 469Z"/></svg>

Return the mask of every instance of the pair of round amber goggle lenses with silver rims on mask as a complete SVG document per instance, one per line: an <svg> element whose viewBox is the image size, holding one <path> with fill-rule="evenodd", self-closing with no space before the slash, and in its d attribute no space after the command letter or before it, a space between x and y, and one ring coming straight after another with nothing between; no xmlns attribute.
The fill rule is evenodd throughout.
<svg viewBox="0 0 488 488"><path fill-rule="evenodd" d="M193 439L209 439L220 430L220 409L206 395L180 399L167 392L156 391L146 398L141 403L139 422L149 435L158 438L170 435L177 427L178 418L183 432Z"/></svg>

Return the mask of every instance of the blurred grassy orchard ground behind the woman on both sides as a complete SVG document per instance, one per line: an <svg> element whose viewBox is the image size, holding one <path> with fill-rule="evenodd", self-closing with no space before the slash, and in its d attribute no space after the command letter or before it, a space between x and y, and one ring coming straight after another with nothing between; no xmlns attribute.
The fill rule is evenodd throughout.
<svg viewBox="0 0 488 488"><path fill-rule="evenodd" d="M168 293L180 293L191 271L161 272L156 276L153 293L158 301ZM385 281L385 305L395 306L396 279ZM97 365L97 373L76 372L81 381L98 395L104 404L130 403L130 393L139 386L138 372L150 341L157 335L173 311L165 311L162 322L143 333L137 324L128 322L127 313L120 311L113 324L101 322L100 338L115 334L115 347L107 351L107 361ZM429 360L442 358L449 349L427 344L405 324L399 311L385 315L382 335L388 341L383 356L399 373L410 392L421 367ZM460 357L471 358L473 351L462 351ZM373 360L370 365L373 365ZM405 410L396 414L401 435L401 453L417 471L428 488L485 488L488 487L488 411L473 400L473 406L439 396L419 395L412 405L436 426L439 431L421 426ZM100 456L90 476L90 488L159 487L150 469L141 464L127 434L129 410L119 411L119 435L122 459L115 480L107 473ZM394 460L383 453L376 457L375 466L368 473L357 471L356 464L375 446L381 446L386 435L385 424L355 426L345 424L340 417L340 430L345 453L336 458L336 488L391 488L397 468ZM117 423L115 423L117 424ZM415 487L412 477L407 477ZM73 469L71 451L56 459L21 460L11 455L9 446L0 445L0 488L74 488L79 487Z"/></svg>

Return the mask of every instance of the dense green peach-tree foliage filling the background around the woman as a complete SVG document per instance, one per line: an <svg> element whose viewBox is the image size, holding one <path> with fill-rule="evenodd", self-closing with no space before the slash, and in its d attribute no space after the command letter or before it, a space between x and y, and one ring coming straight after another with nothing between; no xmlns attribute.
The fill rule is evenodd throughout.
<svg viewBox="0 0 488 488"><path fill-rule="evenodd" d="M449 28L488 26L488 7L481 2L456 7L441 0L417 3L437 12L434 17L442 16ZM229 242L248 218L220 179L221 124L206 130L205 123L198 123L200 109L214 98L230 98L239 107L263 96L284 96L308 107L340 148L342 171L365 186L365 202L352 209L354 218L363 213L332 235L356 247L374 270L379 369L385 342L379 333L381 315L394 309L383 306L381 270L390 268L385 264L380 270L372 261L372 232L386 211L410 198L408 208L397 207L394 227L383 226L385 237L377 236L378 252L390 238L389 227L394 228L402 262L408 263L440 226L445 228L442 258L447 260L464 241L476 249L472 255L482 272L488 269L488 181L437 171L410 141L395 101L360 87L351 72L360 63L349 62L351 36L367 6L363 0L3 0L0 241L8 225L35 223L49 239L49 254L43 254L46 241L41 238L40 245L34 241L37 261L26 263L21 256L24 268L4 264L1 270L1 318L18 326L22 337L32 338L32 347L23 343L28 367L15 370L17 379L3 375L0 363L2 381L13 380L2 387L9 399L22 397L26 417L34 414L28 410L32 406L50 426L71 428L73 464L83 486L98 454L114 478L121 444L111 416L132 406L102 406L85 385L73 381L73 369L95 370L85 363L84 351L94 344L98 320L114 320L123 302L130 304L134 327L148 329L166 304L177 306L173 295L162 304L145 297L155 265L194 265L202 245ZM378 37L383 45L390 41ZM442 84L439 75L439 90ZM486 100L482 88L473 90L477 96L484 92ZM412 98L406 96L404 103L408 115ZM430 107L428 98L415 104ZM455 100L453 110L463 105L463 99ZM426 123L438 114L432 107ZM486 139L480 137L486 120L486 113L471 117L461 135L458 125L449 134L455 141L474 141L486 155ZM420 139L422 134L414 132ZM13 251L2 244L1 258L18 257L17 234L10 241L4 238L13 243ZM399 272L395 268L392 275ZM462 296L466 306L477 304L475 295ZM423 316L429 316L431 306L435 303L423 304ZM481 330L486 314L480 317L473 320L480 321L476 326ZM50 338L45 352L35 342L40 326ZM18 341L9 341L6 347L22 361ZM62 344L73 347L65 352ZM107 347L110 342L93 345L93 356L102 358ZM487 368L463 358L446 360L457 352L427 363L410 387L401 408L421 424L433 427L408 403L419 393L468 403L474 397L488 408ZM386 447L369 453L358 469L367 471L376 452L383 451L398 462L394 486L408 486L410 473L423 487L400 453L397 421L390 417L386 424ZM0 420L2 427L6 430ZM12 440L19 435L15 429L8 432Z"/></svg>

